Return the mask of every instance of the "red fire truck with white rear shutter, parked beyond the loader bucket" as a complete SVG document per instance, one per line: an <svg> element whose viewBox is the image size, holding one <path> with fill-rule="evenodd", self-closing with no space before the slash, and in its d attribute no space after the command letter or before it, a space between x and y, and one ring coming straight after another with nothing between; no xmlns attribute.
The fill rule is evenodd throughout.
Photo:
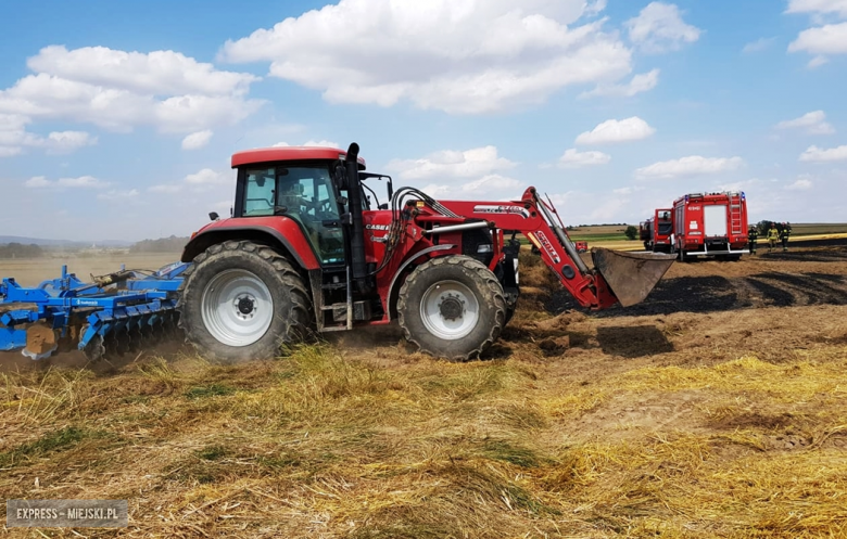
<svg viewBox="0 0 847 539"><path fill-rule="evenodd" d="M680 260L713 256L738 260L747 249L744 193L692 193L673 203L671 252Z"/></svg>

